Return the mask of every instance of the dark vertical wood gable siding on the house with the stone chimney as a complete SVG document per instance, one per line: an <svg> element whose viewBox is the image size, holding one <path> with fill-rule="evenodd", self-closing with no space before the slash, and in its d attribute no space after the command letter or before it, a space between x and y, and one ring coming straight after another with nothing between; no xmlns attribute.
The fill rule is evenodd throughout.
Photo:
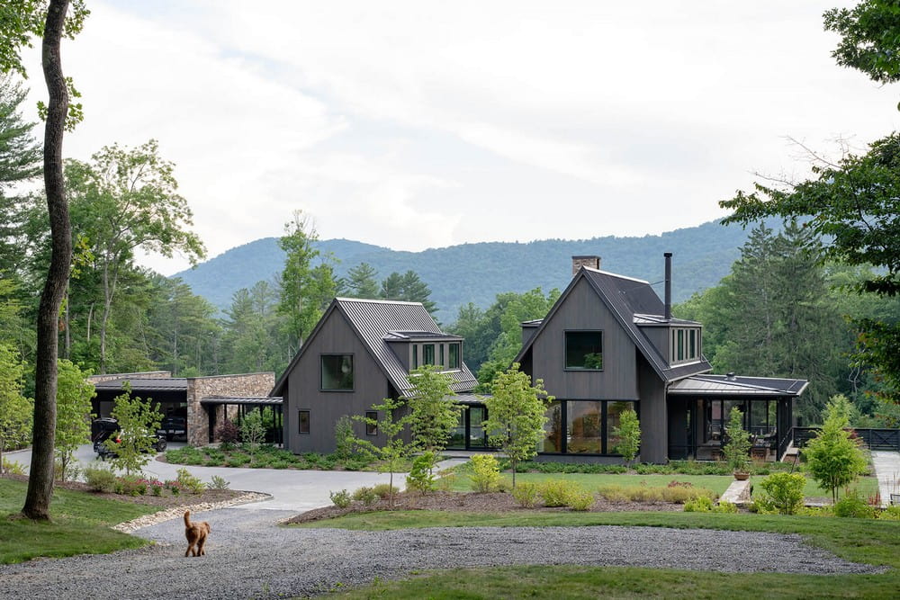
<svg viewBox="0 0 900 600"><path fill-rule="evenodd" d="M567 330L603 331L603 371L565 371ZM635 344L590 283L578 282L532 345L532 373L559 399L640 399Z"/></svg>

